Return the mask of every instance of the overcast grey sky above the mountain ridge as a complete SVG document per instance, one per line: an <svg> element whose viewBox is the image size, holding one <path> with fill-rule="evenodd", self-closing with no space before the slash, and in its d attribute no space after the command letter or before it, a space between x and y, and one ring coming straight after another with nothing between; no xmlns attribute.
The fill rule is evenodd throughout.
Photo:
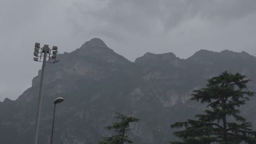
<svg viewBox="0 0 256 144"><path fill-rule="evenodd" d="M256 56L255 23L255 0L0 0L0 101L31 87L37 41L63 53L97 37L130 61L200 49Z"/></svg>

